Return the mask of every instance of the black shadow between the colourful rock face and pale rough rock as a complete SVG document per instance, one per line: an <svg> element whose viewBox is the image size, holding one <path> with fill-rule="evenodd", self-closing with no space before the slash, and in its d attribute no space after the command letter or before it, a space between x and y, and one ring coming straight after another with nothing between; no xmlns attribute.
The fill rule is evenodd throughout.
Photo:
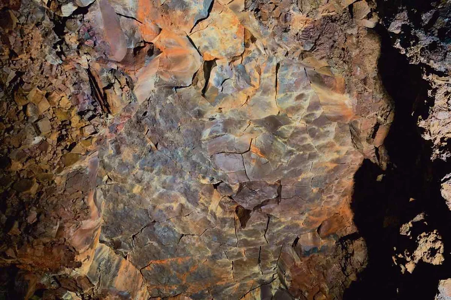
<svg viewBox="0 0 451 300"><path fill-rule="evenodd" d="M354 223L367 243L369 264L359 280L345 291L343 299L433 300L438 281L451 278L451 257L447 254L451 245L451 211L440 194L441 173L450 168L432 164L431 146L416 125L418 116L427 117L430 105L429 86L422 79L421 67L409 64L405 56L392 48L382 26L376 31L382 39L379 73L395 109L385 140L390 164L383 171L365 160L354 176ZM421 230L437 229L443 237L445 262L420 262L412 274L402 274L392 260L394 247L406 249L413 241L400 235L399 227L421 212L426 213L428 223Z"/></svg>

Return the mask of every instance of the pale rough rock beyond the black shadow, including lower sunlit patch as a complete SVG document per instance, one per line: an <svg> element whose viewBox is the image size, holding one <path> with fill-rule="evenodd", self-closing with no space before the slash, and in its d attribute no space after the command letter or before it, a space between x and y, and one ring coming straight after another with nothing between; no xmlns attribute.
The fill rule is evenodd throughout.
<svg viewBox="0 0 451 300"><path fill-rule="evenodd" d="M450 275L446 262L449 261L449 253L444 251L444 245L449 243L449 225L446 220L451 208L448 146L451 128L451 2L398 1L397 5L389 2L383 0L377 3L381 24L387 29L392 45L419 70L417 80L423 86L421 94L412 101L411 111L413 121L418 125L418 131L425 141L422 160L426 161L425 169L429 174L424 176L424 182L433 199L431 202L428 201L429 197L418 199L420 209L426 211L426 214L421 213L412 222L401 226L401 235L408 234L410 241L398 245L396 255L412 259L406 264L407 271L411 273L415 272L413 269L418 258L423 263L435 265L431 267L431 273L436 273L437 276L433 276L433 279L430 279L432 282L427 283L431 285L430 294L436 293L435 299L447 299L447 279ZM416 201L414 198L410 200L411 203ZM416 208L417 212L421 210ZM417 228L412 229L415 227ZM413 236L411 231L414 232ZM411 243L414 239L417 245ZM401 271L404 271L403 266ZM412 274L415 276L415 273ZM419 278L415 280L421 282ZM437 285L438 291L434 289Z"/></svg>

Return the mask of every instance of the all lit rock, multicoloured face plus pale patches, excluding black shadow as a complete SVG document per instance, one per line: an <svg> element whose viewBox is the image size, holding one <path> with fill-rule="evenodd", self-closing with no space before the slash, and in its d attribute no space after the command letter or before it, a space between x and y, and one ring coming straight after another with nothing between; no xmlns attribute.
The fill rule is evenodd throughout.
<svg viewBox="0 0 451 300"><path fill-rule="evenodd" d="M384 3L1 5L4 297L341 299L358 279L354 176L390 163ZM401 34L410 15L393 7ZM441 264L441 235L418 234L399 263Z"/></svg>

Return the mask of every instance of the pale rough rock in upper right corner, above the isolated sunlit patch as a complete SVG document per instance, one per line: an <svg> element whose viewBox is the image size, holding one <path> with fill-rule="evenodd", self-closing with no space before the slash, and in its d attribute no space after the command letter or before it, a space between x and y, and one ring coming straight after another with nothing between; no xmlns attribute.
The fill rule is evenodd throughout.
<svg viewBox="0 0 451 300"><path fill-rule="evenodd" d="M421 115L418 125L423 137L431 141L433 160L450 158L448 138L450 128L450 71L451 71L451 3L450 1L397 1L398 5L381 1L383 24L388 27L393 45L407 56L410 63L423 69L429 84L429 99L418 99L417 106L428 101L430 109ZM406 3L404 3L406 2ZM444 192L446 194L446 192ZM446 198L447 196L444 195Z"/></svg>

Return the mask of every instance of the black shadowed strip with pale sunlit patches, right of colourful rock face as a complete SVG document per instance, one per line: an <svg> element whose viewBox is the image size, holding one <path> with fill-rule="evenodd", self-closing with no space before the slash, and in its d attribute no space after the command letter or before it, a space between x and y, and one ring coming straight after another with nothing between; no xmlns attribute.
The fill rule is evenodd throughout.
<svg viewBox="0 0 451 300"><path fill-rule="evenodd" d="M374 291L369 299L445 297L443 281L451 277L451 2L378 0L376 7L379 70L395 114L384 141L388 168L367 162L361 179L355 177L354 223L369 264L347 297L368 290Z"/></svg>

